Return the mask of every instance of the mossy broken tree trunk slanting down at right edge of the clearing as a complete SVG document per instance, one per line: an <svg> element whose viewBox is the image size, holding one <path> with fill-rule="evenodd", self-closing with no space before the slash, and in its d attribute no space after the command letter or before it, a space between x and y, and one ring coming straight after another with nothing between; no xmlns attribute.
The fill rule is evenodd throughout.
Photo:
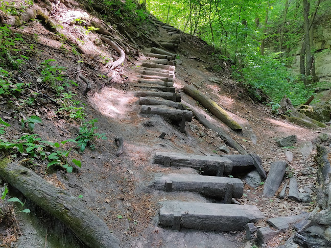
<svg viewBox="0 0 331 248"><path fill-rule="evenodd" d="M300 113L297 111L291 102L291 100L285 95L280 101L281 111L283 112L282 115L287 120L296 123L297 125L309 128L325 128L325 124L309 118L305 114Z"/></svg>

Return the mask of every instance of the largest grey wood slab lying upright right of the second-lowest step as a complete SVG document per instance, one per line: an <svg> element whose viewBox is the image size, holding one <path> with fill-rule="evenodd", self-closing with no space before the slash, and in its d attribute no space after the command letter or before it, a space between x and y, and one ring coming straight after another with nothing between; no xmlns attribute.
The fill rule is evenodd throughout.
<svg viewBox="0 0 331 248"><path fill-rule="evenodd" d="M263 194L267 197L274 196L285 175L287 162L280 160L273 162L264 184Z"/></svg>

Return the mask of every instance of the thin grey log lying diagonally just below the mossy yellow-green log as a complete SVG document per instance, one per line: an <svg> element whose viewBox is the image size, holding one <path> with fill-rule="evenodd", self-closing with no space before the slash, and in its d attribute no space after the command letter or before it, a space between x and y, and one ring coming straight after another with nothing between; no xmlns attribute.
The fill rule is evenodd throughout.
<svg viewBox="0 0 331 248"><path fill-rule="evenodd" d="M215 126L209 120L207 120L206 117L204 115L200 114L199 111L195 107L193 107L192 105L184 102L183 100L181 100L181 103L191 109L191 111L193 112L195 118L203 126L205 126L208 129L211 129L211 130L215 131L221 137L221 139L223 139L230 147L237 150L240 154L248 154L245 151L245 149L238 142L234 141L229 135L227 135L223 129Z"/></svg>

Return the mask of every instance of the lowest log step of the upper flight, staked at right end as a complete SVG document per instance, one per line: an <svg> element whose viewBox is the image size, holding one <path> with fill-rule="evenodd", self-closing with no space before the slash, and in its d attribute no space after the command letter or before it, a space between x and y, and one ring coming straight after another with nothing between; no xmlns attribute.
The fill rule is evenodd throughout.
<svg viewBox="0 0 331 248"><path fill-rule="evenodd" d="M185 114L185 121L191 122L193 113L188 110L179 110L179 109L166 109L166 108L157 108L142 105L141 106L141 114L157 114L163 117L167 117L171 120L180 121Z"/></svg>

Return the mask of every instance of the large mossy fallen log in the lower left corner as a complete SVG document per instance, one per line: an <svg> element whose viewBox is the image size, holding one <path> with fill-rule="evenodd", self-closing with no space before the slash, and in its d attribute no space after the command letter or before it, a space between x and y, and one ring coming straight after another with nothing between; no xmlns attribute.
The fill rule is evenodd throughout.
<svg viewBox="0 0 331 248"><path fill-rule="evenodd" d="M0 161L0 175L39 207L60 219L89 247L119 247L119 240L110 233L107 225L84 207L78 197L8 160Z"/></svg>

